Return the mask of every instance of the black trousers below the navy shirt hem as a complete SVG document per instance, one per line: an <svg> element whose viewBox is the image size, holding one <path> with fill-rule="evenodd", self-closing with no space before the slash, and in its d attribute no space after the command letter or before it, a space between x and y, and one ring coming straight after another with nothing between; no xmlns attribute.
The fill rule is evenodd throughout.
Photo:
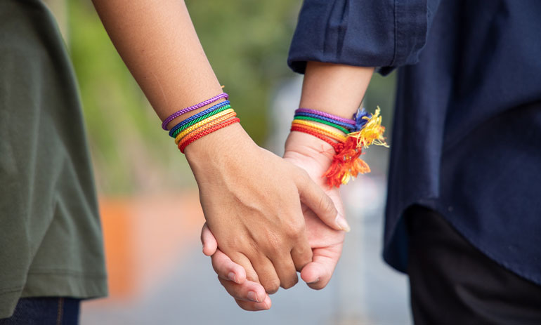
<svg viewBox="0 0 541 325"><path fill-rule="evenodd" d="M439 213L406 211L415 324L541 324L541 286L510 272Z"/></svg>

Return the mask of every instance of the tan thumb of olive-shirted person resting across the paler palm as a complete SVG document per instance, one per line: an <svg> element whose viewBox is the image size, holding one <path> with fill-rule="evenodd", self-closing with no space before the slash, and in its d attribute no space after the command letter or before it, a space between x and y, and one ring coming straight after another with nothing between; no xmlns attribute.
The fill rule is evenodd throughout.
<svg viewBox="0 0 541 325"><path fill-rule="evenodd" d="M332 199L313 182L304 170L303 176L297 182L297 188L301 202L318 215L325 225L334 230L344 230L345 232L351 230L344 215L338 213Z"/></svg>

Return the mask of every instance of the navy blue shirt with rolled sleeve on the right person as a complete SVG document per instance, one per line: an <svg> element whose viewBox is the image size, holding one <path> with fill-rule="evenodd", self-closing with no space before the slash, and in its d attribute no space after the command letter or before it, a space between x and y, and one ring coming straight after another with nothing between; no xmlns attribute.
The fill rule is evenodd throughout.
<svg viewBox="0 0 541 325"><path fill-rule="evenodd" d="M541 1L305 0L288 63L308 60L400 67L387 263L405 270L421 204L541 284Z"/></svg>

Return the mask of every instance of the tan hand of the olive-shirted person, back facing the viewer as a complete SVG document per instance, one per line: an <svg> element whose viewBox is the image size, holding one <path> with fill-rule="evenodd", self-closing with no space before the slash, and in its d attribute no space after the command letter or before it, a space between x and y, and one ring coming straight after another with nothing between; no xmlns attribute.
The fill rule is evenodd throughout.
<svg viewBox="0 0 541 325"><path fill-rule="evenodd" d="M255 145L238 124L185 153L220 250L268 293L294 286L296 270L312 260L301 201L339 229L332 200L306 171Z"/></svg>

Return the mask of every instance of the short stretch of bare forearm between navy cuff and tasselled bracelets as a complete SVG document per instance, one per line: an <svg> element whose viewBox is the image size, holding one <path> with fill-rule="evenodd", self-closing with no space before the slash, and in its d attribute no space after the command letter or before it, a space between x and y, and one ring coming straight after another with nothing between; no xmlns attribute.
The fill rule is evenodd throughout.
<svg viewBox="0 0 541 325"><path fill-rule="evenodd" d="M351 119L365 96L373 67L308 62L299 107Z"/></svg>

